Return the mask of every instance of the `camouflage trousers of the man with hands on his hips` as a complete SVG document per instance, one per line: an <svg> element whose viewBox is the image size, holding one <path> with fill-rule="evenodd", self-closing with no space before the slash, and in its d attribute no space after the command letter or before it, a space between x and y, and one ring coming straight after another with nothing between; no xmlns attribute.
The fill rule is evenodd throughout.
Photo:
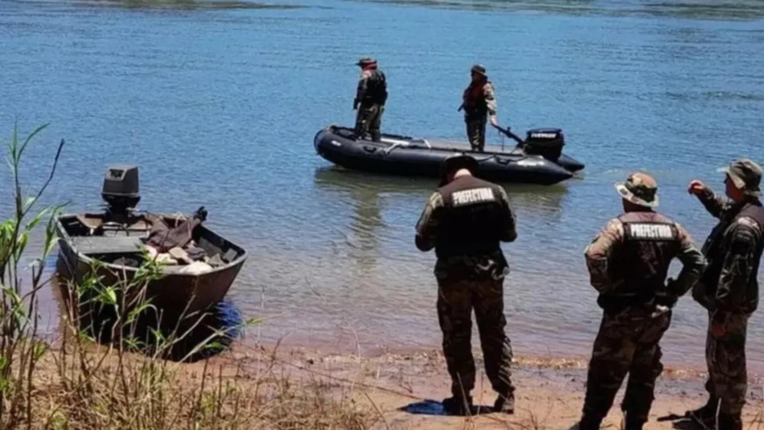
<svg viewBox="0 0 764 430"><path fill-rule="evenodd" d="M604 419L629 373L621 409L627 422L647 421L655 382L663 370L658 343L671 323L670 311L656 318L651 313L649 308L632 307L603 315L589 362L584 419Z"/></svg>

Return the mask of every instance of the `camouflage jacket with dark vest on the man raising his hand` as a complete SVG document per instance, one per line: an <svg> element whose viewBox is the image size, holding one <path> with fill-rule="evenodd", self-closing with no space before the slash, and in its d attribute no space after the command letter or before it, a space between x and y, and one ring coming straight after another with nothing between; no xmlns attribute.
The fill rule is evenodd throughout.
<svg viewBox="0 0 764 430"><path fill-rule="evenodd" d="M698 196L719 218L703 245L708 260L693 297L711 311L748 314L759 305L759 260L764 250L764 209L758 199L735 203L706 189Z"/></svg>

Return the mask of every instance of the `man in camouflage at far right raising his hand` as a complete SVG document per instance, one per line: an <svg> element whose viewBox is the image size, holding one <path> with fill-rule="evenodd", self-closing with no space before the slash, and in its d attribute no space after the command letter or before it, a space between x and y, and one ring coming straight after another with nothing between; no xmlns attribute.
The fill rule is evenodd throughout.
<svg viewBox="0 0 764 430"><path fill-rule="evenodd" d="M708 260L692 296L708 310L706 362L708 403L688 415L710 425L719 412L719 428L742 428L746 403L746 326L759 305L759 272L764 240L764 209L759 202L762 169L748 159L725 168L727 198L694 180L688 192L698 196L719 223L703 245Z"/></svg>

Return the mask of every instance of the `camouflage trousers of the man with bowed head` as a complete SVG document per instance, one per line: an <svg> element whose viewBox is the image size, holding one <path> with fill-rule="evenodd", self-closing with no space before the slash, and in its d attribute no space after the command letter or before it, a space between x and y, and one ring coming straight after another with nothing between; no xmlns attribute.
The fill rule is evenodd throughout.
<svg viewBox="0 0 764 430"><path fill-rule="evenodd" d="M454 396L469 395L475 386L472 357L472 309L478 322L485 373L502 396L515 390L510 377L512 348L504 333L503 279L438 280L438 319L443 331L443 354Z"/></svg>

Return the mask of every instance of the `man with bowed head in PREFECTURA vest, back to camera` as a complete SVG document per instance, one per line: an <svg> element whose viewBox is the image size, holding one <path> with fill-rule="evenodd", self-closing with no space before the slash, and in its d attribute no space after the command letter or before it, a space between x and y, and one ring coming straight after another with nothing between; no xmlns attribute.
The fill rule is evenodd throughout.
<svg viewBox="0 0 764 430"><path fill-rule="evenodd" d="M416 224L416 247L438 257L438 319L443 354L452 379L452 397L443 400L448 413L471 411L475 384L471 351L472 309L478 322L485 373L497 391L496 412L514 412L510 380L512 349L504 333L503 281L509 273L500 241L517 237L507 192L474 177L478 162L466 155L450 157L441 168L441 183Z"/></svg>

